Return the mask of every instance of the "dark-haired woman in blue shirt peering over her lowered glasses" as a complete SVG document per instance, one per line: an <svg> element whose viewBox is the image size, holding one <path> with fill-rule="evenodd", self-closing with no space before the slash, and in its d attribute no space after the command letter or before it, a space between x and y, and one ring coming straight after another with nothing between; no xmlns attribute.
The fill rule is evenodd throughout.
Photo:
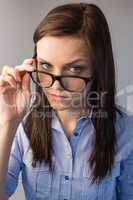
<svg viewBox="0 0 133 200"><path fill-rule="evenodd" d="M104 14L93 4L58 6L34 43L33 58L0 77L1 199L20 172L28 200L133 199L133 118L115 102Z"/></svg>

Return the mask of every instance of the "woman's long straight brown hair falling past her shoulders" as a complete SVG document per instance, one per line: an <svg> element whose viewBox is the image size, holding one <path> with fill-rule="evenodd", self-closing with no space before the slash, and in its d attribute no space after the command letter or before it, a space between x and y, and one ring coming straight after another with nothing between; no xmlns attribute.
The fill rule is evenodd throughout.
<svg viewBox="0 0 133 200"><path fill-rule="evenodd" d="M101 99L90 98L93 107L92 122L95 127L95 144L88 158L92 169L93 181L102 180L111 172L116 153L116 111L115 104L115 66L112 52L111 37L106 18L100 8L94 4L71 3L52 9L41 21L34 33L36 59L36 44L44 36L74 36L81 37L91 49L91 65L94 80L90 91L97 94L106 92ZM52 108L42 89L36 87L41 95L38 106L33 106L25 130L33 150L33 166L36 161L45 161L52 166L51 117ZM94 93L92 93L94 97ZM36 100L34 102L36 104ZM38 113L45 113L38 115ZM47 113L48 116L47 116Z"/></svg>

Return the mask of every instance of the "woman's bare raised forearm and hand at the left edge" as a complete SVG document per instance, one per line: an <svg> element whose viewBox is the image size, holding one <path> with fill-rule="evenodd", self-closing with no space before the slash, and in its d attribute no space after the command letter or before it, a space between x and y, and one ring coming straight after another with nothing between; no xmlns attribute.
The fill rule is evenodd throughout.
<svg viewBox="0 0 133 200"><path fill-rule="evenodd" d="M3 195L5 191L13 138L30 102L30 76L28 72L34 71L32 63L33 59L26 59L22 65L15 68L4 66L0 74L0 195ZM17 164L17 161L13 160L13 164L9 168L14 172L16 168L18 169L19 164ZM8 176L9 181L7 181L9 183L13 179L10 178L10 174ZM16 172L15 175L14 186L11 183L6 184L10 185L11 188L16 187ZM8 191L10 191L10 194L13 192L10 188L8 188Z"/></svg>

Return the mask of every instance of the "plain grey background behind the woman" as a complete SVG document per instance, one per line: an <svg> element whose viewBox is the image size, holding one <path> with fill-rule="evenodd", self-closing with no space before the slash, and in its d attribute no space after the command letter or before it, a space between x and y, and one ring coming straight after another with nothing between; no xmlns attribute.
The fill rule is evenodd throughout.
<svg viewBox="0 0 133 200"><path fill-rule="evenodd" d="M78 0L0 0L0 69L20 65L32 56L33 32L45 14L57 5ZM84 0L96 3L110 27L117 73L117 100L133 112L133 1ZM111 78L111 77L110 77ZM11 200L24 200L21 180Z"/></svg>

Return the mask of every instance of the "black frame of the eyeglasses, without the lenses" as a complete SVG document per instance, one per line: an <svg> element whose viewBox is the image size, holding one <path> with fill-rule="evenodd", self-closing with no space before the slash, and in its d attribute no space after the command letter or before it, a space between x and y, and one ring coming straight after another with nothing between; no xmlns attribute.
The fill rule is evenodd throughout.
<svg viewBox="0 0 133 200"><path fill-rule="evenodd" d="M69 90L69 89L65 88L65 86L63 85L62 80L61 80L62 78L65 78L65 77L79 78L79 79L84 80L85 85L87 85L87 83L90 82L90 81L92 81L92 79L93 79L93 77L87 78L87 77L75 76L75 75L63 75L63 76L58 76L58 75L54 75L54 74L51 74L51 73L49 73L49 72L44 72L44 71L40 71L40 70L34 70L34 71L32 71L32 72L28 72L29 75L30 75L30 77L31 77L31 79L32 79L32 81L33 81L35 84L37 84L39 87L41 87L41 88L43 88L43 87L42 87L41 85L39 85L37 81L34 80L34 78L33 78L33 76L32 76L32 73L33 73L33 72L36 72L36 73L39 72L39 73L48 74L49 76L51 76L51 78L52 78L52 83L50 84L50 86L44 87L44 88L50 88L50 87L53 85L54 81L55 81L55 80L58 80L59 83L60 83L60 85L62 86L62 88L64 88L64 89L67 90L67 91L70 91L70 92L75 92L75 90Z"/></svg>

